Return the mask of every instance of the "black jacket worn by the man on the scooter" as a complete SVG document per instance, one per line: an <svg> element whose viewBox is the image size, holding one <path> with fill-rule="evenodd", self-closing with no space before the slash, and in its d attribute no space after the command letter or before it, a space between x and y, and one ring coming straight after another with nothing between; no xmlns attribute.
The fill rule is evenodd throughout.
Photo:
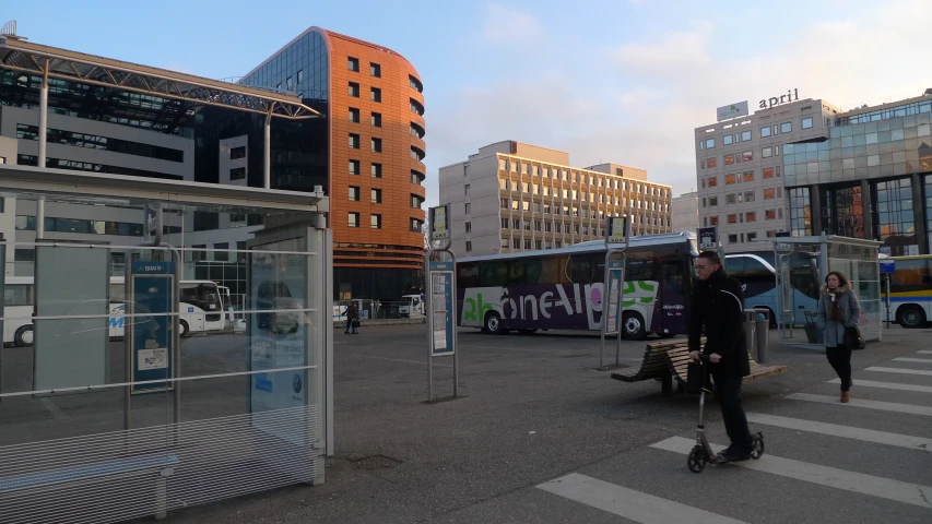
<svg viewBox="0 0 932 524"><path fill-rule="evenodd" d="M705 348L699 347L703 326ZM689 350L721 355L719 364L711 365L712 373L751 374L744 335L744 293L741 283L724 270L719 269L707 281L696 281L689 310Z"/></svg>

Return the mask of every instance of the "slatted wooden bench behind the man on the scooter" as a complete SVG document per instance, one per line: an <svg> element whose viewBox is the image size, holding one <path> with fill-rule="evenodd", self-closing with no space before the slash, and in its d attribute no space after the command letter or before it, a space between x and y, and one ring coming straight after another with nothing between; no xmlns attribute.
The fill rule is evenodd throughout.
<svg viewBox="0 0 932 524"><path fill-rule="evenodd" d="M700 345L705 344L705 337ZM763 379L787 371L786 366L765 366L754 361L748 355L751 373L744 381ZM661 382L664 396L673 394L673 378L676 378L676 389L681 393L686 389L686 374L689 365L689 341L660 342L648 344L644 361L639 369L629 368L612 373L612 378L623 382L639 382L656 379Z"/></svg>

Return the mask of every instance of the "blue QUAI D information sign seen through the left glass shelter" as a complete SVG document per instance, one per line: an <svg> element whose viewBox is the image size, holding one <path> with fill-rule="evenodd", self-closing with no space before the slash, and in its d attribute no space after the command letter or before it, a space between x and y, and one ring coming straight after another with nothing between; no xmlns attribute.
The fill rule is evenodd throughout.
<svg viewBox="0 0 932 524"><path fill-rule="evenodd" d="M132 393L172 390L172 320L175 300L175 263L133 261L130 264L132 311L129 327L133 382L166 379L165 382L133 384Z"/></svg>

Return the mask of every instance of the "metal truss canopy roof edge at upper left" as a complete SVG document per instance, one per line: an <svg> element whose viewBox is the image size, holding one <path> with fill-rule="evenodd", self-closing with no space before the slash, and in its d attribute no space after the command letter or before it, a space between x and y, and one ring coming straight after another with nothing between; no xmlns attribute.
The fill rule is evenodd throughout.
<svg viewBox="0 0 932 524"><path fill-rule="evenodd" d="M10 36L0 36L0 69L291 120L322 117L297 96L31 44Z"/></svg>

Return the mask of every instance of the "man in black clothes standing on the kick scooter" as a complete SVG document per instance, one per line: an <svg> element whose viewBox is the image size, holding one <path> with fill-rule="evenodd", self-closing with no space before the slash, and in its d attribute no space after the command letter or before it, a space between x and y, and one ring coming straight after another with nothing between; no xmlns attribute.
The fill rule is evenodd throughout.
<svg viewBox="0 0 932 524"><path fill-rule="evenodd" d="M741 384L751 373L744 335L744 294L741 284L728 276L721 258L704 251L696 260L699 282L694 287L689 313L689 358L708 356L731 444L720 453L722 463L751 458L754 443L741 406ZM706 346L699 347L705 327Z"/></svg>

